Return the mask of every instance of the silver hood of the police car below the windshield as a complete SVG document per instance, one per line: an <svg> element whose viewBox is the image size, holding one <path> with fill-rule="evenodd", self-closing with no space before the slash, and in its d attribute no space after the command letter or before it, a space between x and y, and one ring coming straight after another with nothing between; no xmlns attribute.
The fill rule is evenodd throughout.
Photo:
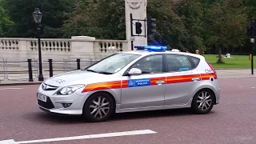
<svg viewBox="0 0 256 144"><path fill-rule="evenodd" d="M44 83L50 86L70 86L76 84L88 84L92 82L103 82L109 78L110 75L106 74L98 74L85 70L75 70L48 78Z"/></svg>

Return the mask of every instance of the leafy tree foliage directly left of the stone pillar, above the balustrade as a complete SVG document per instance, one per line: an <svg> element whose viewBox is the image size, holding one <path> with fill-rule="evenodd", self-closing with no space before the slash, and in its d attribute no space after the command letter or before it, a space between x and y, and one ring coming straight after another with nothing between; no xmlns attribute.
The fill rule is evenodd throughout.
<svg viewBox="0 0 256 144"><path fill-rule="evenodd" d="M65 38L88 35L95 38L126 39L123 0L76 1L74 11L62 26Z"/></svg>

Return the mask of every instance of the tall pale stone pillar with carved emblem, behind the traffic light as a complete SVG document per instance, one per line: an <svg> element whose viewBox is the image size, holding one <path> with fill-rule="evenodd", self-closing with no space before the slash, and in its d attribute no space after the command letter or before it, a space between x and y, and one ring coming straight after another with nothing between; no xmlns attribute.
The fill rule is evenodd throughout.
<svg viewBox="0 0 256 144"><path fill-rule="evenodd" d="M126 40L128 40L128 50L131 50L131 33L130 33L130 14L134 19L146 18L146 0L125 0L126 4ZM135 22L133 25L133 34L135 33ZM145 22L142 22L142 35L145 35ZM146 46L147 38L134 36L134 46Z"/></svg>

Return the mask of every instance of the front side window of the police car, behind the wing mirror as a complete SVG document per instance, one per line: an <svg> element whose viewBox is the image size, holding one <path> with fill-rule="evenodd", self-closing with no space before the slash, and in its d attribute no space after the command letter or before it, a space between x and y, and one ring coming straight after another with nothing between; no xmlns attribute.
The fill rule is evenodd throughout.
<svg viewBox="0 0 256 144"><path fill-rule="evenodd" d="M142 70L142 74L162 73L162 54L151 55L134 63L131 68Z"/></svg>

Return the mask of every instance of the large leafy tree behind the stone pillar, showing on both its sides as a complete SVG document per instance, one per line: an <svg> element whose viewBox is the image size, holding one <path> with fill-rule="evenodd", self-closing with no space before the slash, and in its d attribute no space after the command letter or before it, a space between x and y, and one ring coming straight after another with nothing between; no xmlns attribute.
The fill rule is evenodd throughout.
<svg viewBox="0 0 256 144"><path fill-rule="evenodd" d="M177 49L186 48L189 45L188 30L182 18L174 13L172 0L148 0L147 4L147 17L157 18L157 33L150 35L150 43ZM66 38L72 35L89 35L96 38L126 39L125 24L123 0L77 0L74 11L65 21L62 30Z"/></svg>

